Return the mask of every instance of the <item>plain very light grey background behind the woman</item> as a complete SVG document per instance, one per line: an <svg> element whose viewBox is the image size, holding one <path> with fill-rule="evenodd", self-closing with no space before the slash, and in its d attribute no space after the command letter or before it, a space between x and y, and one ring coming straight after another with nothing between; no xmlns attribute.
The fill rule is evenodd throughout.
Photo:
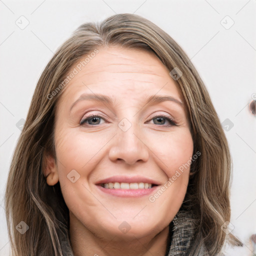
<svg viewBox="0 0 256 256"><path fill-rule="evenodd" d="M78 25L124 12L148 18L179 43L205 82L220 121L233 123L225 131L233 158L230 222L244 247L227 249L226 255L251 255L256 117L248 103L253 95L256 99L256 0L0 0L0 255L9 249L3 194L20 134L16 123L26 118L42 70Z"/></svg>

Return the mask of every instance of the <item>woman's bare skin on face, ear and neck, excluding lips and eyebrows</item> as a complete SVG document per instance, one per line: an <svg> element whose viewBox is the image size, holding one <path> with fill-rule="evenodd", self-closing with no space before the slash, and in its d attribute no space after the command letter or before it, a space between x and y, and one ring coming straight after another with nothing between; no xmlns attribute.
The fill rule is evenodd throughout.
<svg viewBox="0 0 256 256"><path fill-rule="evenodd" d="M69 111L82 93L108 95L114 103L80 100ZM192 157L184 104L145 104L151 95L183 100L169 70L153 53L112 46L99 48L60 97L54 130L57 163L48 157L45 172L49 173L48 185L60 182L76 256L165 254L168 224L184 199L189 168L154 202L149 195L123 198L105 194L95 185L112 175L142 175L163 185ZM92 119L79 124L92 113L104 118L98 118L96 124ZM165 118L157 121L155 116L161 114L177 125ZM123 118L131 124L127 131L118 127ZM67 178L72 169L80 175L74 183ZM126 233L118 228L123 221L130 226Z"/></svg>

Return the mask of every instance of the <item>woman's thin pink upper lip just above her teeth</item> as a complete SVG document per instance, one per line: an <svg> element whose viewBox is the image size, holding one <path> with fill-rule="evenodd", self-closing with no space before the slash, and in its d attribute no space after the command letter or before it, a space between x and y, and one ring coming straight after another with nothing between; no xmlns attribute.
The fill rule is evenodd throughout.
<svg viewBox="0 0 256 256"><path fill-rule="evenodd" d="M151 178L147 178L147 177L143 177L143 176L122 176L122 175L115 175L115 176L111 176L108 178L104 178L99 180L96 184L104 184L104 183L109 183L109 182L123 182L123 183L139 183L139 182L143 182L143 183L150 183L150 184L154 184L154 185L159 185L159 182L156 180L153 180Z"/></svg>

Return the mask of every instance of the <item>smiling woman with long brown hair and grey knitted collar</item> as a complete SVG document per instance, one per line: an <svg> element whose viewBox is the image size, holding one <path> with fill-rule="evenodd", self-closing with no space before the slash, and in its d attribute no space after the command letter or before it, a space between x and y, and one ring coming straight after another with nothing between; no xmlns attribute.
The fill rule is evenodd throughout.
<svg viewBox="0 0 256 256"><path fill-rule="evenodd" d="M13 255L219 255L230 154L181 47L134 14L85 23L35 88L10 166Z"/></svg>

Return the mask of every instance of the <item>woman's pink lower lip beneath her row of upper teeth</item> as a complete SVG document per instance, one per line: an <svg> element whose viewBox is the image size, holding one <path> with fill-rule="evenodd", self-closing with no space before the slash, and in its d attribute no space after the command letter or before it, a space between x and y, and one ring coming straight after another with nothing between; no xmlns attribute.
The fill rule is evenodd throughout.
<svg viewBox="0 0 256 256"><path fill-rule="evenodd" d="M140 197L152 193L157 186L151 188L138 188L138 189L121 189L121 188L104 188L97 185L98 189L104 193L112 194L120 197Z"/></svg>

